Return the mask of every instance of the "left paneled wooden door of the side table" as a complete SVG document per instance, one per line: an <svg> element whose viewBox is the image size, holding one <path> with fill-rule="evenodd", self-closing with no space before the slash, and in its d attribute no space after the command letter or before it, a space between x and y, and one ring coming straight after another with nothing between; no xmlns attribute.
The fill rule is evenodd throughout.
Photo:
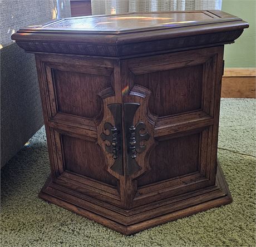
<svg viewBox="0 0 256 247"><path fill-rule="evenodd" d="M115 161L122 166L122 153L116 149L118 159L113 159L111 140L112 127L120 125L115 116L116 111L121 114L119 63L76 56L36 58L53 181L80 196L123 205L122 176L112 169ZM121 131L117 127L114 132Z"/></svg>

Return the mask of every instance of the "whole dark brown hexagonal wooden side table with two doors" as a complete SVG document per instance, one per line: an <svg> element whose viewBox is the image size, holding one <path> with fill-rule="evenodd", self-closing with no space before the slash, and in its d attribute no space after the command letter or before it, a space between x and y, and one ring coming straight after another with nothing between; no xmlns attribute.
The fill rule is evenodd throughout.
<svg viewBox="0 0 256 247"><path fill-rule="evenodd" d="M40 197L124 234L232 201L217 161L221 11L76 17L19 30L51 162Z"/></svg>

